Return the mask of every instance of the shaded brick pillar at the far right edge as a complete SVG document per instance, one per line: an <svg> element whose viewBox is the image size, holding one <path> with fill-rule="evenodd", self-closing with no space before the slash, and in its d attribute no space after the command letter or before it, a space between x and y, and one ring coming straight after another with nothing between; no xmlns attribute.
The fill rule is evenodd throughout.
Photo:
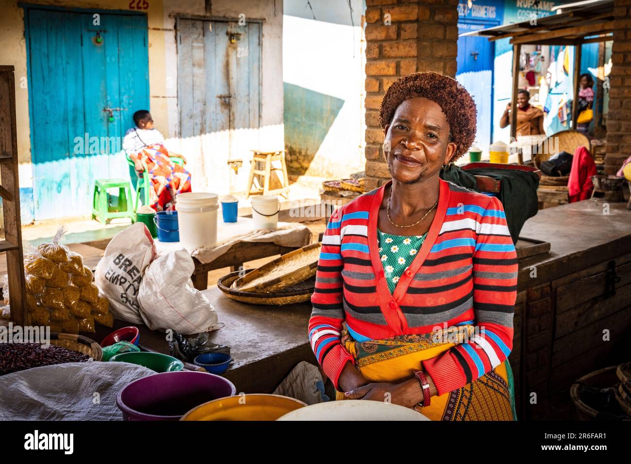
<svg viewBox="0 0 631 464"><path fill-rule="evenodd" d="M613 6L605 174L615 174L631 155L631 0L615 0Z"/></svg>

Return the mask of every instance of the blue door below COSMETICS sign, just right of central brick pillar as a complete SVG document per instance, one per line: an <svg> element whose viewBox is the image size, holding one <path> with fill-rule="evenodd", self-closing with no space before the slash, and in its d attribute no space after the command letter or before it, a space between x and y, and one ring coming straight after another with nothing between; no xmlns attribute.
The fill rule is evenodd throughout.
<svg viewBox="0 0 631 464"><path fill-rule="evenodd" d="M493 42L486 37L459 37L456 79L475 100L478 109L475 143L483 151L492 143L493 59Z"/></svg>

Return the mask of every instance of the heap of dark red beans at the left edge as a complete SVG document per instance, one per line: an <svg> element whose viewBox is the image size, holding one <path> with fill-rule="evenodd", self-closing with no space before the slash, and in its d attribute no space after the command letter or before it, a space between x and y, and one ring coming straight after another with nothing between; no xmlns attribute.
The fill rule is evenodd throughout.
<svg viewBox="0 0 631 464"><path fill-rule="evenodd" d="M0 343L0 376L31 367L85 362L88 359L88 355L52 345L42 348L40 343Z"/></svg>

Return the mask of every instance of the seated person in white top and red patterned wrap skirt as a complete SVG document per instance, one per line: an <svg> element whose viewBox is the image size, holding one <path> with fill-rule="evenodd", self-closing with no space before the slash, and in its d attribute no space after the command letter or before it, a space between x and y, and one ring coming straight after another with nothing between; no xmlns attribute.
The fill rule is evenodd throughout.
<svg viewBox="0 0 631 464"><path fill-rule="evenodd" d="M164 146L164 137L153 128L153 119L148 110L134 113L136 127L127 130L122 148L134 162L138 177L143 176L147 167L151 187L149 205L156 211L163 211L169 203L175 203L179 193L191 191L191 173L169 157L186 158L178 153L169 153Z"/></svg>

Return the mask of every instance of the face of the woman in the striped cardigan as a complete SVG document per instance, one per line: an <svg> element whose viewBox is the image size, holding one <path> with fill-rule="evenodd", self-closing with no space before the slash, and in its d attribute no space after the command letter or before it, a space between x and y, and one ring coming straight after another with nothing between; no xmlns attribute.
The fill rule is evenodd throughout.
<svg viewBox="0 0 631 464"><path fill-rule="evenodd" d="M428 98L404 100L384 128L384 153L396 181L413 184L433 175L456 153L449 124L440 105Z"/></svg>

